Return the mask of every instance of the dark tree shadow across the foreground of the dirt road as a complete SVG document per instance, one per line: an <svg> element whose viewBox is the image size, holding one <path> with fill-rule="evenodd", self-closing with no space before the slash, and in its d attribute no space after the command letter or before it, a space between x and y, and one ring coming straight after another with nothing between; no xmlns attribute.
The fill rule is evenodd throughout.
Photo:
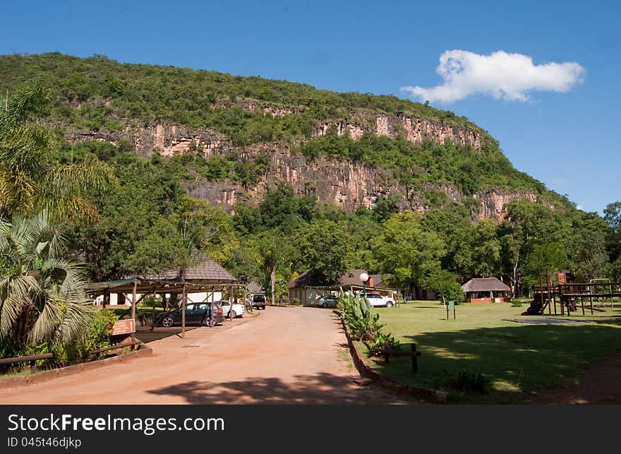
<svg viewBox="0 0 621 454"><path fill-rule="evenodd" d="M210 383L187 381L149 391L156 395L182 396L190 404L260 405L368 405L407 404L405 398L384 390L355 386L350 377L332 374L296 376L294 383L280 378L248 378L243 381Z"/></svg>

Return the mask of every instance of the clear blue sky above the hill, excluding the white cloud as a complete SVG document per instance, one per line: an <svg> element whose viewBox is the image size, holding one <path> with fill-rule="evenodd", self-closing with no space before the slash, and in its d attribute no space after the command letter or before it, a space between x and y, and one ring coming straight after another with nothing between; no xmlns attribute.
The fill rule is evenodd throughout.
<svg viewBox="0 0 621 454"><path fill-rule="evenodd" d="M517 169L584 210L621 201L615 1L30 1L4 4L3 16L0 54L103 54L399 97L441 85L450 50L575 62L581 81L565 92L431 104L489 131Z"/></svg>

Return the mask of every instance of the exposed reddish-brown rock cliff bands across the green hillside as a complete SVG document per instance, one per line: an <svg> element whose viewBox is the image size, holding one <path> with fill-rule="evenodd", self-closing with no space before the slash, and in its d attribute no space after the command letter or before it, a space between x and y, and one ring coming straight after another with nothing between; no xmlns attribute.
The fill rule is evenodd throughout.
<svg viewBox="0 0 621 454"><path fill-rule="evenodd" d="M246 109L263 108L266 114L291 114L287 109L266 110L255 104L244 106ZM456 145L481 148L482 133L456 126L435 124L426 119L405 115L358 114L349 121L324 123L317 126L315 135L320 136L330 128L336 128L339 135L348 134L357 139L365 132L380 136L396 137L401 134L413 143L435 141L443 143L452 141ZM185 126L155 124L150 126L126 126L121 131L86 133L70 131L66 139L78 141L108 141L119 143L127 141L142 157L157 153L172 156L183 153L202 153L205 159L214 155L224 155L236 147L221 133L212 129L189 129ZM341 160L326 160L320 157L314 162L307 162L301 155L294 155L286 145L262 144L252 145L243 150L246 159L252 160L259 153L270 157L270 165L263 179L252 188L242 188L231 181L205 181L198 179L186 184L191 196L205 198L212 203L231 210L232 206L243 200L252 200L265 191L268 181L284 181L294 187L297 193L315 193L320 201L330 201L344 210L352 211L364 205L371 208L379 198L395 195L399 199L399 208L424 212L426 207L420 194L412 193L399 184L392 174L381 169L374 169L363 164L354 164ZM438 186L451 201L460 201L463 196L450 186ZM502 218L503 207L510 201L528 198L535 201L535 193L478 193L475 198L480 201L478 213L473 217Z"/></svg>

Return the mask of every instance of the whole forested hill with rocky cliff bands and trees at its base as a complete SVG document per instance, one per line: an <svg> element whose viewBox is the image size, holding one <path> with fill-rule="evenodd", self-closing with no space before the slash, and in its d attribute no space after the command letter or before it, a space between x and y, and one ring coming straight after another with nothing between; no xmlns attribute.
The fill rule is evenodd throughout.
<svg viewBox="0 0 621 454"><path fill-rule="evenodd" d="M520 294L538 265L552 266L550 250L581 279L621 275L616 205L606 220L577 210L452 112L104 56L0 56L6 103L33 78L49 102L25 121L55 133L42 168L97 165L116 177L79 194L97 219L64 226L92 279L159 271L196 251L275 297L308 268L366 268L411 296L496 275ZM13 167L0 162L0 209Z"/></svg>

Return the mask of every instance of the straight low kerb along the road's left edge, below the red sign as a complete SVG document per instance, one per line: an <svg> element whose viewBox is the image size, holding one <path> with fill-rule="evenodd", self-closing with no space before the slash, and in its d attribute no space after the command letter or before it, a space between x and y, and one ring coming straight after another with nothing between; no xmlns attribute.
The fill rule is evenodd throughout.
<svg viewBox="0 0 621 454"><path fill-rule="evenodd" d="M28 386L35 383L43 383L44 381L54 380L68 375L79 374L83 371L91 371L93 369L101 369L109 364L128 362L132 359L150 357L153 350L148 345L140 345L138 350L129 353L119 354L114 357L97 359L96 361L74 364L73 366L60 367L50 371L35 372L35 374L22 375L17 377L8 377L0 379L0 389L16 388L17 386Z"/></svg>

